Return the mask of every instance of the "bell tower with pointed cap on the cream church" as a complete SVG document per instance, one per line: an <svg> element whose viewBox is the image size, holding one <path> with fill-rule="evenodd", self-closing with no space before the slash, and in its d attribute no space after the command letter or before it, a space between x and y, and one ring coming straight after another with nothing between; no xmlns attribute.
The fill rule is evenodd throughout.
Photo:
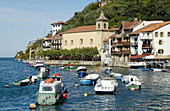
<svg viewBox="0 0 170 111"><path fill-rule="evenodd" d="M101 11L100 17L96 19L96 30L108 30L109 24L108 24L109 19L107 19L104 16L103 11Z"/></svg>

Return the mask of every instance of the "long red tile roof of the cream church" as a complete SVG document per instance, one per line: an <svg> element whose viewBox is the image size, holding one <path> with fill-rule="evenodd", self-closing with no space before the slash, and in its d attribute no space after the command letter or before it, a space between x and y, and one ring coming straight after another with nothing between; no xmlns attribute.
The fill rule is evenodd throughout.
<svg viewBox="0 0 170 111"><path fill-rule="evenodd" d="M70 32L82 32L82 31L94 31L96 30L96 25L88 25L88 26L79 26L63 33L70 33ZM114 27L109 26L109 30L115 30Z"/></svg>

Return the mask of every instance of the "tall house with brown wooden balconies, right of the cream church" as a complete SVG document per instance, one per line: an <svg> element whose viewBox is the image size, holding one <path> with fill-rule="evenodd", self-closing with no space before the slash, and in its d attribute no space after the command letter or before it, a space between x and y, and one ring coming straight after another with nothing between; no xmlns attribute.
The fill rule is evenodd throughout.
<svg viewBox="0 0 170 111"><path fill-rule="evenodd" d="M122 21L119 29L115 31L115 35L111 37L111 55L113 66L128 66L128 57L130 56L130 36L129 33L133 28L139 25L137 19L134 22Z"/></svg>

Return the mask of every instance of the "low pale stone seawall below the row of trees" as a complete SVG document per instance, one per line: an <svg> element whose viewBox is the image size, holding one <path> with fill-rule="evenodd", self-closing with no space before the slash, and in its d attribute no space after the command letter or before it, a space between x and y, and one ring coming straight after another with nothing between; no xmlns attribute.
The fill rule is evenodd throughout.
<svg viewBox="0 0 170 111"><path fill-rule="evenodd" d="M23 63L33 63L35 60L23 60ZM72 65L85 65L85 66L99 66L102 65L101 61L72 61L72 60L45 60L45 65L61 65L61 64L72 64Z"/></svg>

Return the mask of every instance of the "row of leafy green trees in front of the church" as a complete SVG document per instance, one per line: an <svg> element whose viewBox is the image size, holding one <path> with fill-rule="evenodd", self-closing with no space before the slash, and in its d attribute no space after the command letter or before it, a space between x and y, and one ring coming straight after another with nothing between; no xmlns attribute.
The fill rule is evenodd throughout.
<svg viewBox="0 0 170 111"><path fill-rule="evenodd" d="M42 51L39 57L49 57L50 60L92 60L98 55L97 47L87 47L87 48L75 48L71 50L61 49L61 50L47 50Z"/></svg>

